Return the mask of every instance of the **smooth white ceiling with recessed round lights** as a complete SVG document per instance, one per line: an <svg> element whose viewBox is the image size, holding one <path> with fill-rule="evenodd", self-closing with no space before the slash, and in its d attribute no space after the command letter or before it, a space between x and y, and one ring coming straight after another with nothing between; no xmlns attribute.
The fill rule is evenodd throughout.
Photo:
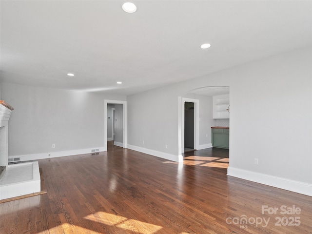
<svg viewBox="0 0 312 234"><path fill-rule="evenodd" d="M1 0L1 80L130 95L312 44L310 0L123 2Z"/></svg>

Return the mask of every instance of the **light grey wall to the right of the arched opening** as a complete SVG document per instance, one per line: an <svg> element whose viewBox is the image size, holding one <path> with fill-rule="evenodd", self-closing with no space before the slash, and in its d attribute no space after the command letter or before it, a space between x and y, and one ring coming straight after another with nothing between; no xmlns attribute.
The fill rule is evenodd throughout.
<svg viewBox="0 0 312 234"><path fill-rule="evenodd" d="M262 176L258 182L272 185L280 177L312 184L311 52L303 48L234 69L229 174L251 179L254 172ZM312 195L312 187L307 190Z"/></svg>

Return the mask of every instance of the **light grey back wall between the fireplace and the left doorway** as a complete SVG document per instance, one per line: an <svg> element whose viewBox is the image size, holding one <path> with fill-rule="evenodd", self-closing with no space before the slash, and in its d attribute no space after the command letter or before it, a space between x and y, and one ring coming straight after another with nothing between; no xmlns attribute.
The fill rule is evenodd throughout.
<svg viewBox="0 0 312 234"><path fill-rule="evenodd" d="M14 107L9 123L9 156L40 157L103 147L104 99L126 99L8 82L1 83L1 95Z"/></svg>

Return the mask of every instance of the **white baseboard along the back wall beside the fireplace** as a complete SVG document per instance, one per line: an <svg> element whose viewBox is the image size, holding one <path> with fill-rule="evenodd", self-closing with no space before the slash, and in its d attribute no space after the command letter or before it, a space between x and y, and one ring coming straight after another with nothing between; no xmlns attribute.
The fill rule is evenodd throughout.
<svg viewBox="0 0 312 234"><path fill-rule="evenodd" d="M9 159L19 157L20 160L14 160L14 162L19 162L19 161L22 162L22 161L39 160L39 159L51 158L51 157L63 157L63 156L72 156L72 155L93 154L93 153L99 153L99 152L103 152L103 151L104 151L104 147L94 147L94 148L90 148L90 149L68 150L68 151L59 151L59 152L33 154L33 155L9 156Z"/></svg>

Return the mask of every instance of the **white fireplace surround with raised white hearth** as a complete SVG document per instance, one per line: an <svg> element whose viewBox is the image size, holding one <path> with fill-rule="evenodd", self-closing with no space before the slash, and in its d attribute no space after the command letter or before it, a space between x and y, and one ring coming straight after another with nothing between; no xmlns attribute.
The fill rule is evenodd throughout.
<svg viewBox="0 0 312 234"><path fill-rule="evenodd" d="M0 178L0 200L40 192L38 162L8 165L8 125L13 108L0 100L0 166L5 166Z"/></svg>

